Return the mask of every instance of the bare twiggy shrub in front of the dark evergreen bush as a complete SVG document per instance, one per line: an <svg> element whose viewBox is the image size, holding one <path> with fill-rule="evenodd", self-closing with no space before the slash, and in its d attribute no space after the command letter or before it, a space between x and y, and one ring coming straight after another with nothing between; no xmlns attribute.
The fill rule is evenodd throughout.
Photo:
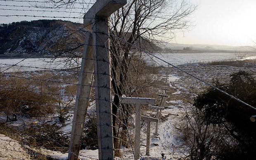
<svg viewBox="0 0 256 160"><path fill-rule="evenodd" d="M221 135L218 127L201 118L203 113L197 108L187 106L185 111L185 117L176 126L180 133L179 152L185 160L218 159L218 151L231 139L225 139L225 133Z"/></svg>

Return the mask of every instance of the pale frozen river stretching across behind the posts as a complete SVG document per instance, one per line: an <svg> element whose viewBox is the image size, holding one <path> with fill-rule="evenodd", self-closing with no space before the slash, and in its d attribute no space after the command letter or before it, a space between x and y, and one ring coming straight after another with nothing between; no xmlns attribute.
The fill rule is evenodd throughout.
<svg viewBox="0 0 256 160"><path fill-rule="evenodd" d="M202 61L221 61L230 59L255 59L256 54L237 54L237 53L164 53L155 54L157 57L168 61L171 64L186 64L186 63L196 63ZM166 65L163 61L156 60L156 63L160 65ZM0 71L11 67L9 65L14 65L23 59L0 59ZM57 61L63 60L57 59ZM9 68L7 72L12 71L36 71L42 70L43 68L56 68L61 69L64 67L60 62L49 63L50 58L31 58L21 61L17 66ZM21 67L22 66L22 67ZM37 68L35 68L37 67Z"/></svg>

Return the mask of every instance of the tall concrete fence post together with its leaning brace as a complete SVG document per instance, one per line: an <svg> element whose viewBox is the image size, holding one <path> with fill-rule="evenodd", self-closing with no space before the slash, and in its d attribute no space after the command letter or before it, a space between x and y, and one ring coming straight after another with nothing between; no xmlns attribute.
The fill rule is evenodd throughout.
<svg viewBox="0 0 256 160"><path fill-rule="evenodd" d="M119 8L126 4L126 0L97 0L95 4L88 10L84 16L84 25L90 26L92 31L93 54L90 54L90 61L93 63L82 62L82 69L93 72L95 70L95 101L97 112L97 136L99 144L99 159L111 160L114 159L114 145L113 145L113 129L112 129L112 109L111 109L111 87L110 87L110 55L109 55L109 16ZM88 39L89 36L86 38ZM84 55L88 51L85 49ZM88 54L89 55L89 54ZM85 56L86 57L86 56ZM89 57L88 59L89 60ZM84 74L84 73L83 73ZM92 83L92 75L80 75L79 84L83 87L78 87L78 97L86 94L88 102L82 103L80 99L76 100L76 111L74 113L74 120L72 126L71 145L69 149L69 160L78 159L81 136L83 133L85 115L89 97L90 88L86 88L87 84L83 85L83 80L90 80ZM83 88L83 89L81 89ZM82 96L81 96L82 97ZM83 96L84 97L84 96ZM84 110L82 110L82 109ZM77 121L79 119L80 121Z"/></svg>

